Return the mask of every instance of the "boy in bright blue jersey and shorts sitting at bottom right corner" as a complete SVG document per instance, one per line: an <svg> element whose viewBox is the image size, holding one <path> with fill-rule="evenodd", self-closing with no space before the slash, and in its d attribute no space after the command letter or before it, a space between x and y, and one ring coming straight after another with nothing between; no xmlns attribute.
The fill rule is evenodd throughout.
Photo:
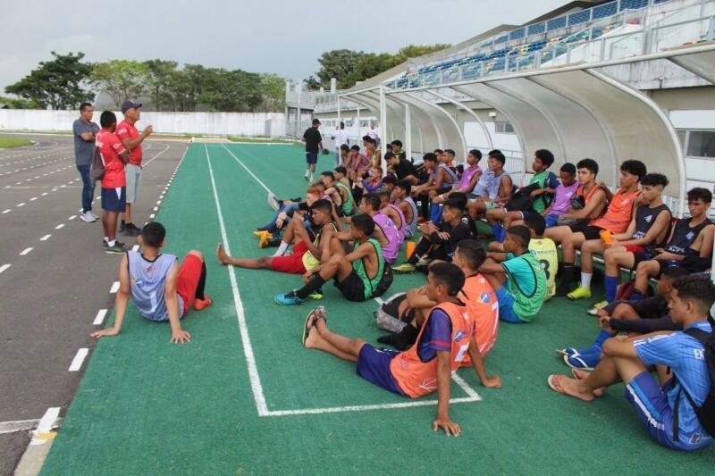
<svg viewBox="0 0 715 476"><path fill-rule="evenodd" d="M673 283L670 314L684 330L712 332L708 316L713 302L715 284L708 277L685 276ZM603 344L603 358L593 372L577 371L576 379L551 375L548 381L555 391L585 401L600 397L605 388L622 381L628 402L653 439L664 447L693 451L713 440L689 401L692 398L695 405L702 405L711 389L704 354L699 340L680 331L610 338ZM652 366L660 384L649 373Z"/></svg>

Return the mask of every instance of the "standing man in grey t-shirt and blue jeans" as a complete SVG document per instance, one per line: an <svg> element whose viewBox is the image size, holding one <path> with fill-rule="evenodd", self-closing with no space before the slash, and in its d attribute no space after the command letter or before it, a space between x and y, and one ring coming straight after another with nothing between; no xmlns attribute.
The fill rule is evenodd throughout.
<svg viewBox="0 0 715 476"><path fill-rule="evenodd" d="M99 126L92 122L95 108L92 104L80 104L80 119L72 123L72 135L74 136L74 163L80 171L82 178L82 214L80 218L91 223L99 218L92 213L92 198L95 195L95 181L89 176L89 165L92 163L92 155L95 153L95 138L99 132Z"/></svg>

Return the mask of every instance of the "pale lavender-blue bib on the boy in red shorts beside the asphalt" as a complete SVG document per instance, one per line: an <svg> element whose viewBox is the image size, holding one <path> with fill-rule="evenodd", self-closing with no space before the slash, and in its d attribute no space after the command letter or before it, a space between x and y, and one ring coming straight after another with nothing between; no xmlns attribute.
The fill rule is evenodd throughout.
<svg viewBox="0 0 715 476"><path fill-rule="evenodd" d="M158 255L156 260L148 261L137 251L128 251L129 282L131 299L137 305L139 313L149 321L168 321L164 300L166 275L176 263L174 255ZM183 315L183 300L179 299L179 315Z"/></svg>

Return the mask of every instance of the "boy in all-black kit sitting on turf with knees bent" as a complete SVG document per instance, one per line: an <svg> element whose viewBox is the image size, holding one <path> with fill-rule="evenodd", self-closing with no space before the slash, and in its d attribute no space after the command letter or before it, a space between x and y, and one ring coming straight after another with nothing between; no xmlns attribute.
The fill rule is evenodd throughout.
<svg viewBox="0 0 715 476"><path fill-rule="evenodd" d="M452 260L457 244L463 239L475 238L469 225L462 221L464 201L450 198L444 204L442 222L439 225L423 223L419 230L423 237L415 246L415 251L409 256L406 263L394 266L392 271L398 273L412 273L416 271L417 262L422 258L421 264L425 265L433 260Z"/></svg>

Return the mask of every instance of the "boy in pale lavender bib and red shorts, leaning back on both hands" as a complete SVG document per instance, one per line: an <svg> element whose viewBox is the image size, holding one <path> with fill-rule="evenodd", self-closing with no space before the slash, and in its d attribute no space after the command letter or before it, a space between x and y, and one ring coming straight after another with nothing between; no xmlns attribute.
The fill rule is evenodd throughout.
<svg viewBox="0 0 715 476"><path fill-rule="evenodd" d="M197 311L213 304L204 294L206 263L200 251L192 250L184 258L181 268L174 255L164 255L166 230L158 221L144 225L139 235L141 253L127 251L119 265L119 291L117 291L114 326L96 330L93 338L116 336L122 330L124 314L129 299L137 305L139 313L154 322L170 322L174 343L191 340L189 332L181 329L181 318L191 306Z"/></svg>

